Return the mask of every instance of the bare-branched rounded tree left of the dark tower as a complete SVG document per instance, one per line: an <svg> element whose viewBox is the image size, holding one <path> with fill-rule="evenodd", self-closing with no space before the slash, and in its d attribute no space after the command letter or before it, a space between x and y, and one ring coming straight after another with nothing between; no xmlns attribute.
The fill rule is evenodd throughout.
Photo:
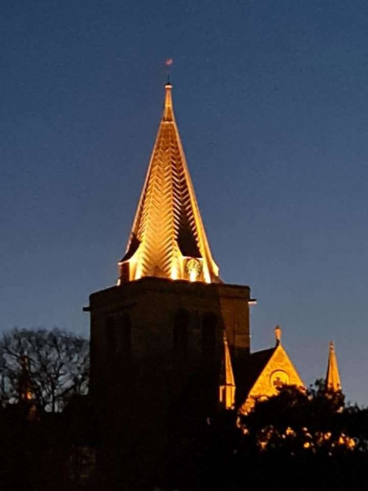
<svg viewBox="0 0 368 491"><path fill-rule="evenodd" d="M74 334L15 328L0 339L3 406L16 403L26 390L38 408L61 411L73 395L88 392L88 371L88 340Z"/></svg>

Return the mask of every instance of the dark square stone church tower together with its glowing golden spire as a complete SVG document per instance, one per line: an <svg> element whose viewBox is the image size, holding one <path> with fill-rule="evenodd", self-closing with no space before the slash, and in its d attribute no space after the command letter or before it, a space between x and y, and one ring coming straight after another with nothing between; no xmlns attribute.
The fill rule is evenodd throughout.
<svg viewBox="0 0 368 491"><path fill-rule="evenodd" d="M144 404L151 413L186 384L190 387L193 377L210 396L211 384L200 381L208 372L217 372L212 375L217 400L220 368L213 368L221 365L224 330L231 352L249 352L250 290L219 277L171 91L167 84L146 180L118 263L117 285L90 295L86 309L91 320L91 394L119 393L124 405L135 407L137 400L142 404L147 398Z"/></svg>

